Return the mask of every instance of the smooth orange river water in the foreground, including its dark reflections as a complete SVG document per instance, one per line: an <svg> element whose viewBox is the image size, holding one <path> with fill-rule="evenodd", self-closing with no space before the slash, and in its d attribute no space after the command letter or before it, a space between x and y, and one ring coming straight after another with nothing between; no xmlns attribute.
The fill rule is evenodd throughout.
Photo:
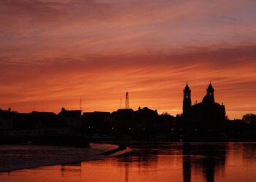
<svg viewBox="0 0 256 182"><path fill-rule="evenodd" d="M119 157L0 173L0 181L255 181L256 143L132 143Z"/></svg>

